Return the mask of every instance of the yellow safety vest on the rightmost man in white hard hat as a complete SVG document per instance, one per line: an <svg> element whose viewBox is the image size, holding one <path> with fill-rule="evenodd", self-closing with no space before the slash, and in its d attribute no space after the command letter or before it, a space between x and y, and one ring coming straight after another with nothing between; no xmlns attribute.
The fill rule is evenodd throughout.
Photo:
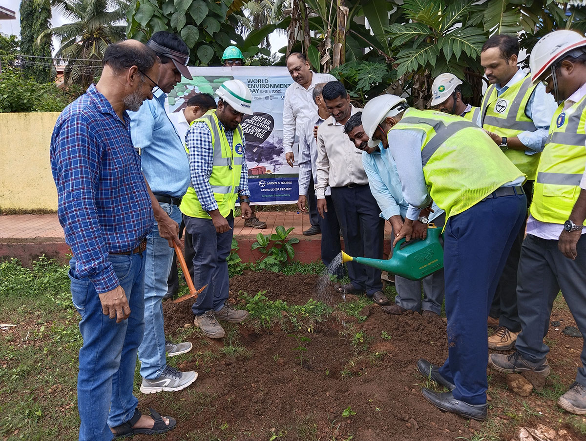
<svg viewBox="0 0 586 441"><path fill-rule="evenodd" d="M529 208L537 220L563 224L570 217L586 163L585 124L586 97L565 111L560 105L554 114Z"/></svg>

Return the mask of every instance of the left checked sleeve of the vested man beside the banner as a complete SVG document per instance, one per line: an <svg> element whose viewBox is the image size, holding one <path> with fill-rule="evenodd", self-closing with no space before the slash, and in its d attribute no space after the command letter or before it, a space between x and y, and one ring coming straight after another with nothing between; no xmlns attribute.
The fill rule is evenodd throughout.
<svg viewBox="0 0 586 441"><path fill-rule="evenodd" d="M206 211L217 210L218 204L210 186L214 164L212 132L205 122L196 122L185 134L185 144L189 149L189 171L191 183L199 203Z"/></svg>

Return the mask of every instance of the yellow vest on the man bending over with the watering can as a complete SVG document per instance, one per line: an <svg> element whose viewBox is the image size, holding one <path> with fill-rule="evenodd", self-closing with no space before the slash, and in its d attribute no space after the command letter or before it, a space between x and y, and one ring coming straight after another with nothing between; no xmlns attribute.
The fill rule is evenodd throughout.
<svg viewBox="0 0 586 441"><path fill-rule="evenodd" d="M402 129L425 132L421 146L425 184L446 218L523 176L478 125L456 115L409 108L391 131Z"/></svg>

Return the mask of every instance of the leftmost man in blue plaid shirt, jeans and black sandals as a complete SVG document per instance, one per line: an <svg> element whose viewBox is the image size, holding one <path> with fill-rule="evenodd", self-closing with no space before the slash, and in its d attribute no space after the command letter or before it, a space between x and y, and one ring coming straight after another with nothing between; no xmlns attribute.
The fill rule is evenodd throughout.
<svg viewBox="0 0 586 441"><path fill-rule="evenodd" d="M153 212L127 111L152 98L156 54L135 40L108 46L100 81L57 118L50 147L58 216L71 247L71 298L81 315L79 439L163 433L132 395L144 331L145 238Z"/></svg>

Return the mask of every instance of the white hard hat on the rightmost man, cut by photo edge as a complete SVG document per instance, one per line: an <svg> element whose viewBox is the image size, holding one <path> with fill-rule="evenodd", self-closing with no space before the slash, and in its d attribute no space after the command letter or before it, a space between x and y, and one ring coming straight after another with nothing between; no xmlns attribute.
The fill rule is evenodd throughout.
<svg viewBox="0 0 586 441"><path fill-rule="evenodd" d="M529 56L533 83L561 56L583 46L586 46L586 38L575 30L554 30L541 37Z"/></svg>

